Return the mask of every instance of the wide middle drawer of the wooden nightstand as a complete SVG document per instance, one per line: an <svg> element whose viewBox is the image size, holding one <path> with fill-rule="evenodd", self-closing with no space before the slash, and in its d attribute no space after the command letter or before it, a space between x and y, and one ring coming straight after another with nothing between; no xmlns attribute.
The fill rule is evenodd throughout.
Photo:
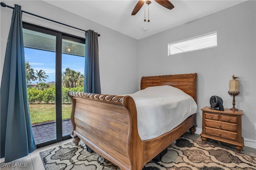
<svg viewBox="0 0 256 170"><path fill-rule="evenodd" d="M205 119L205 126L206 127L212 127L212 128L218 128L221 130L228 130L232 132L237 132L237 124L234 123L226 123L226 122L221 122L221 121L212 121Z"/></svg>

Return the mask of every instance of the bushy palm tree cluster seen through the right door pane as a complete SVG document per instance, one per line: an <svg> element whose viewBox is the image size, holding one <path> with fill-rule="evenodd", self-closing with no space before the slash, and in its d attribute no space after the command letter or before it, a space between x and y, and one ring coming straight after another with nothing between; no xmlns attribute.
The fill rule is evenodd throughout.
<svg viewBox="0 0 256 170"><path fill-rule="evenodd" d="M62 85L64 87L78 87L84 85L84 75L79 71L66 68L62 73Z"/></svg>

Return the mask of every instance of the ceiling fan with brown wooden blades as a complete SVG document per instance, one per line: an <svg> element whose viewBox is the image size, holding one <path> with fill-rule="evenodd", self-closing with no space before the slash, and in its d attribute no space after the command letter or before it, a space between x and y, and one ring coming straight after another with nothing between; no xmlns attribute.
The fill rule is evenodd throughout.
<svg viewBox="0 0 256 170"><path fill-rule="evenodd" d="M174 8L173 4L169 1L169 0L155 0L158 4L162 5L163 7L171 10L172 8ZM132 15L137 14L137 12L140 10L140 8L144 5L144 3L146 4L151 4L150 0L139 0L138 3L136 4L136 6L134 7L133 11L132 11Z"/></svg>

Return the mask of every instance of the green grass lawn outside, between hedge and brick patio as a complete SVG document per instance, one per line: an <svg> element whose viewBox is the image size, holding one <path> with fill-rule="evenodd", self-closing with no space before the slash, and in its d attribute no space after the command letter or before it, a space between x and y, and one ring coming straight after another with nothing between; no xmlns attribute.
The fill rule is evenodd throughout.
<svg viewBox="0 0 256 170"><path fill-rule="evenodd" d="M62 120L70 119L71 104L62 104ZM29 104L31 125L56 120L55 104Z"/></svg>

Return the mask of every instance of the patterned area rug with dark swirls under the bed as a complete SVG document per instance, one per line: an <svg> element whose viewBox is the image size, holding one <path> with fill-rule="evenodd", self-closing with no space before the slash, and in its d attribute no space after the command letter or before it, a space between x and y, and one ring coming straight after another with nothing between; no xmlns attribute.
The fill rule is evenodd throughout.
<svg viewBox="0 0 256 170"><path fill-rule="evenodd" d="M114 164L102 162L95 152L73 142L40 152L46 170L120 170ZM214 144L180 137L159 162L148 162L143 170L254 170L256 157L238 154Z"/></svg>

